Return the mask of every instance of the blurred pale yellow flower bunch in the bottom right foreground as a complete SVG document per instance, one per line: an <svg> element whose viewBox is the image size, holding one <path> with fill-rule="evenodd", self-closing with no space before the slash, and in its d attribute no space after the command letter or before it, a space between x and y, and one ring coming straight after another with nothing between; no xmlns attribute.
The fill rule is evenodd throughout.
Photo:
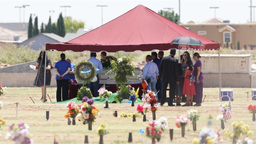
<svg viewBox="0 0 256 144"><path fill-rule="evenodd" d="M242 121L235 121L232 123L233 132L230 133L228 130L225 132L225 135L233 138L233 143L237 142L240 136L246 135L247 137L252 137L253 132L250 130L250 126L248 124L244 124Z"/></svg>

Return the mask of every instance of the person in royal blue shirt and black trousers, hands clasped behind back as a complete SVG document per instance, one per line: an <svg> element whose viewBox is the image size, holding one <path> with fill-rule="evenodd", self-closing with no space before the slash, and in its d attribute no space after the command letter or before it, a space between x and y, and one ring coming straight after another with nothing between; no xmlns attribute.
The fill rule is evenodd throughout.
<svg viewBox="0 0 256 144"><path fill-rule="evenodd" d="M68 80L69 71L71 69L71 65L68 61L65 60L66 56L64 53L60 54L61 60L58 61L54 66L54 71L56 73L56 81L57 81L57 92L56 99L57 102L61 101L61 92L62 92L62 100L68 100ZM62 90L61 90L62 88Z"/></svg>

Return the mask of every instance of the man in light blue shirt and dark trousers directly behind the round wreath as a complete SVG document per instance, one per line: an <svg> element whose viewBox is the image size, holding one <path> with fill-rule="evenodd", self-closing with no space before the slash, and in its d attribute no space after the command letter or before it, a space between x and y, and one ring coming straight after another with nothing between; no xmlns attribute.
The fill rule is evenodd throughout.
<svg viewBox="0 0 256 144"><path fill-rule="evenodd" d="M98 97L99 96L99 84L100 84L100 79L99 79L99 74L100 72L103 70L102 68L102 63L100 62L100 60L96 59L96 52L91 52L91 58L87 61L91 61L93 66L95 68L98 68L99 70L97 71L97 81L96 82L90 82L87 84L87 87L90 88L90 90L93 90L93 97Z"/></svg>

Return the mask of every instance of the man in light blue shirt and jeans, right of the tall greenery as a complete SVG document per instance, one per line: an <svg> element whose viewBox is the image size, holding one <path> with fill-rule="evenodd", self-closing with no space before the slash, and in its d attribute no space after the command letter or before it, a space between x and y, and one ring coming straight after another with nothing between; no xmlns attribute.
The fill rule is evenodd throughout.
<svg viewBox="0 0 256 144"><path fill-rule="evenodd" d="M151 55L146 56L147 64L142 68L142 82L144 80L148 83L148 90L156 93L156 81L158 80L159 72L156 63L152 62Z"/></svg>

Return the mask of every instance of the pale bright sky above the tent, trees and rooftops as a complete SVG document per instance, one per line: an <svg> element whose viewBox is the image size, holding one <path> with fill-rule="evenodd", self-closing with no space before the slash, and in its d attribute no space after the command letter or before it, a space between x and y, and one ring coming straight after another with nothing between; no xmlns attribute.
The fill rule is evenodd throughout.
<svg viewBox="0 0 256 144"><path fill-rule="evenodd" d="M181 22L186 23L193 20L196 23L208 20L214 17L214 10L210 6L219 6L216 10L216 17L222 20L230 20L231 23L246 23L250 20L250 0L180 0L181 1ZM67 8L67 16L73 19L82 20L85 22L86 28L97 28L101 25L101 8L96 5L108 5L103 8L103 23L106 23L114 18L124 14L125 12L142 4L149 9L158 12L164 7L174 8L173 10L179 12L178 0L116 0L116 1L26 1L26 0L0 0L0 22L19 22L19 8L20 6L29 4L25 9L25 21L28 22L29 14L36 14L39 19L39 24L43 21L48 22L50 10L55 12L52 14L52 22L57 21L58 15L62 12L65 16L64 8L60 5L70 5ZM256 0L252 1L252 5L256 5ZM253 11L252 11L253 19ZM21 22L23 22L23 9L21 10Z"/></svg>

